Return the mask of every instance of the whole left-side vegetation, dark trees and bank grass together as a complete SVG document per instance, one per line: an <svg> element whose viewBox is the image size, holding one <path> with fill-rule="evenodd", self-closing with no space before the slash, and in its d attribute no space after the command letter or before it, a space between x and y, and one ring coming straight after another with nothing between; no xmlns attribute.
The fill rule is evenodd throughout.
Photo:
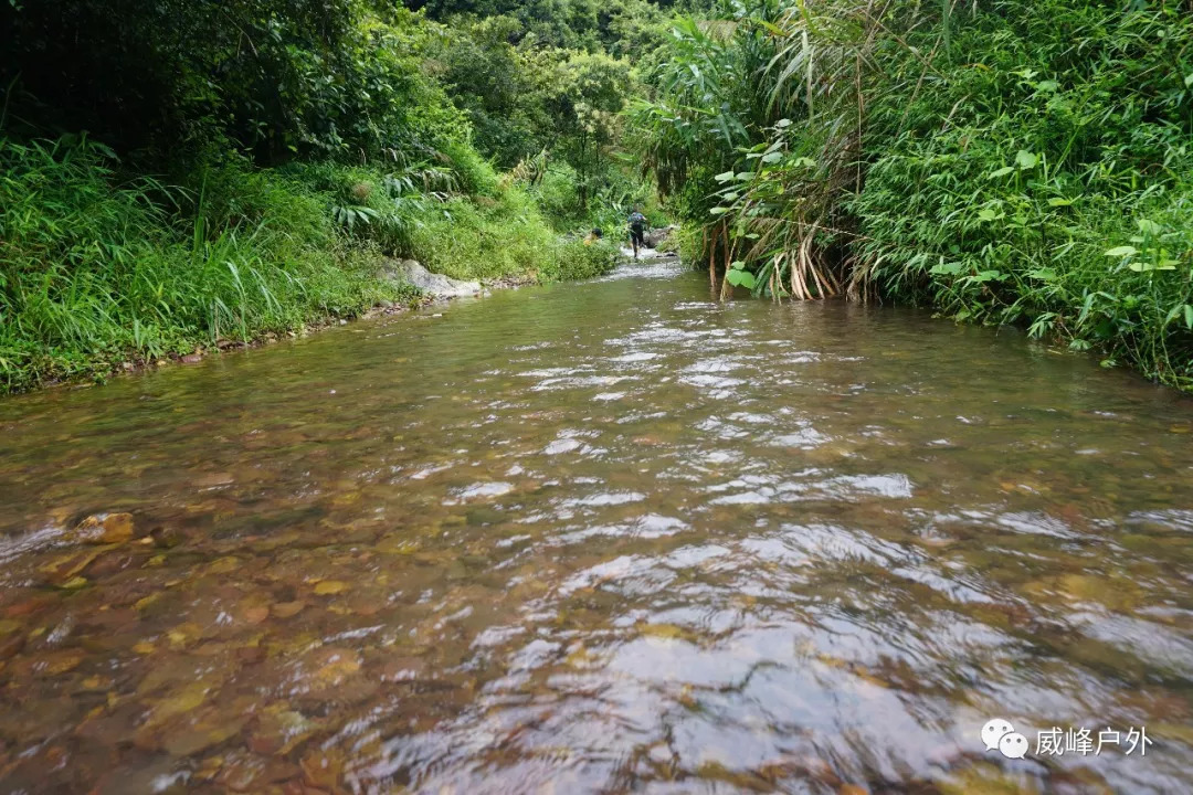
<svg viewBox="0 0 1193 795"><path fill-rule="evenodd" d="M383 256L470 278L610 267L611 246L556 232L649 192L616 155L624 56L657 45L661 13L439 11L490 15L0 2L0 389L408 297Z"/></svg>

